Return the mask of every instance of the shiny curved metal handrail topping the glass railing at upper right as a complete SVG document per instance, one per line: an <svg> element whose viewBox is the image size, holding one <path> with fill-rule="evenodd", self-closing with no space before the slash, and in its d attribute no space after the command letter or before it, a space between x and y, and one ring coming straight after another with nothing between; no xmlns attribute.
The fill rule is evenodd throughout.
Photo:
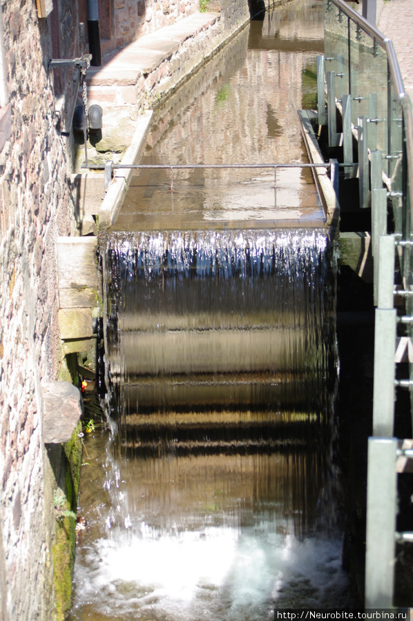
<svg viewBox="0 0 413 621"><path fill-rule="evenodd" d="M398 103L403 108L403 115L405 121L405 139L406 139L406 150L407 150L407 188L410 197L410 213L412 215L412 223L413 223L413 200L410 195L410 191L413 188L413 110L412 105L410 103L410 97L408 97L405 93L405 89L403 86L403 78L401 77L400 68L398 66L398 61L396 58L396 52L394 51L394 46L392 39L389 37L385 37L383 32L378 30L375 26L372 26L371 23L367 21L360 13L355 11L353 8L348 6L348 4L344 0L329 0L329 3L335 4L340 11L352 19L356 23L358 23L367 34L369 34L377 43L385 50L387 54L387 61L389 63L390 75L392 77L394 93L396 95Z"/></svg>

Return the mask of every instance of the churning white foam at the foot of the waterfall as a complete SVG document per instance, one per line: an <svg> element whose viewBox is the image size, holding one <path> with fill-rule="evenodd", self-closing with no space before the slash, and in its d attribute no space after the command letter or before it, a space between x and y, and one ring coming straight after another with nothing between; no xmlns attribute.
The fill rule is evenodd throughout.
<svg viewBox="0 0 413 621"><path fill-rule="evenodd" d="M77 562L75 614L82 619L89 603L124 621L149 612L156 620L235 621L271 618L274 607L345 606L340 547L265 528L160 533L141 524L98 540Z"/></svg>

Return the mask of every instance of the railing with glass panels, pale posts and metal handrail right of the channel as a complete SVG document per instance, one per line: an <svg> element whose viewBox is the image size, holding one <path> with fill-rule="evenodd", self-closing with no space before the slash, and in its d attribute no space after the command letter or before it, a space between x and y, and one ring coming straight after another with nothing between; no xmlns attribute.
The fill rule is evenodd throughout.
<svg viewBox="0 0 413 621"><path fill-rule="evenodd" d="M403 471L400 460L412 458L413 442L405 450L407 441L393 437L396 389L410 390L412 402L413 388L413 112L392 41L343 0L325 0L325 59L318 65L326 73L327 110L323 93L322 98L319 96L319 118L326 119L329 146L338 144L336 106L341 106L344 159L349 158L350 149L352 152L355 136L360 206L372 208L376 315L373 435L368 441L367 464L365 607L390 609L396 543L413 540L410 532L396 532L397 473ZM348 165L345 175L354 174ZM388 235L387 221L392 217L394 232ZM397 285L396 266L401 275ZM395 296L404 301L404 308L398 304L398 311ZM398 326L404 326L401 337L397 336ZM396 365L406 357L409 378L396 380ZM411 418L412 412L411 406Z"/></svg>

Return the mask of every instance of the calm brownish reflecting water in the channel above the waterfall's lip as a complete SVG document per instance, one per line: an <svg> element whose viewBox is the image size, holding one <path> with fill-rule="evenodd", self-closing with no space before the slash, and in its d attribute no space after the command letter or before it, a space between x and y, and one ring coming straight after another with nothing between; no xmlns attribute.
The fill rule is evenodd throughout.
<svg viewBox="0 0 413 621"><path fill-rule="evenodd" d="M323 48L322 5L298 0L244 28L155 111L140 164L307 162L297 110ZM287 44L287 42L289 42ZM312 65L311 65L312 63ZM315 92L315 81L313 92ZM321 226L311 171L142 170L117 230Z"/></svg>

